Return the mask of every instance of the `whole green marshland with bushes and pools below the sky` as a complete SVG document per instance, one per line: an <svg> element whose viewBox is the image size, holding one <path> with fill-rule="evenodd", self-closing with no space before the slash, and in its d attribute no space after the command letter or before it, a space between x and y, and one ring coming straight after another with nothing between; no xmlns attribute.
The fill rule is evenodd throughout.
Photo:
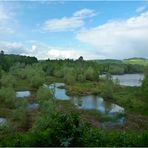
<svg viewBox="0 0 148 148"><path fill-rule="evenodd" d="M1 53L0 102L0 146L148 146L147 64Z"/></svg>

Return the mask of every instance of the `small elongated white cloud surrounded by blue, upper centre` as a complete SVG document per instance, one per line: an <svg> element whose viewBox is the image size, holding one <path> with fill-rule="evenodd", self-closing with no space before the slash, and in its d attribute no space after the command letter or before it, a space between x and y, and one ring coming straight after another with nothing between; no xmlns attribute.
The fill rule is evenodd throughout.
<svg viewBox="0 0 148 148"><path fill-rule="evenodd" d="M95 11L91 9L81 9L73 13L71 17L49 19L42 25L42 29L48 32L72 31L84 25L86 17L92 17Z"/></svg>

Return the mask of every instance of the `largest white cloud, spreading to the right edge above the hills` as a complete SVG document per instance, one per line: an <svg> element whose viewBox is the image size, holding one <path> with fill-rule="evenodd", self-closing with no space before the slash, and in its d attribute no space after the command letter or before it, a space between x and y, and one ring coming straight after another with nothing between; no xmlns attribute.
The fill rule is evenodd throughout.
<svg viewBox="0 0 148 148"><path fill-rule="evenodd" d="M148 12L81 30L76 38L95 48L98 57L148 57Z"/></svg>

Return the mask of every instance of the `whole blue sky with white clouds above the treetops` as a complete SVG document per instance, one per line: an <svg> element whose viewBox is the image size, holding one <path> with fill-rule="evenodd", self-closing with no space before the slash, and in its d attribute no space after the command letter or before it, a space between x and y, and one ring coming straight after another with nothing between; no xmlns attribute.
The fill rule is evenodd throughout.
<svg viewBox="0 0 148 148"><path fill-rule="evenodd" d="M148 1L0 1L0 50L38 59L148 58Z"/></svg>

